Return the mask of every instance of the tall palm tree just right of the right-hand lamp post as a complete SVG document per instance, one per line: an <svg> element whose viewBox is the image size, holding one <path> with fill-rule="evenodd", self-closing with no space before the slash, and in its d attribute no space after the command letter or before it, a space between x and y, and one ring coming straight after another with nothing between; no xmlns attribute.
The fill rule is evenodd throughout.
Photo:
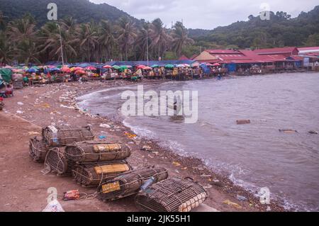
<svg viewBox="0 0 319 226"><path fill-rule="evenodd" d="M150 37L152 38L152 49L157 52L158 58L162 57L164 52L169 49L172 37L167 33L163 22L159 18L155 19L151 24Z"/></svg>

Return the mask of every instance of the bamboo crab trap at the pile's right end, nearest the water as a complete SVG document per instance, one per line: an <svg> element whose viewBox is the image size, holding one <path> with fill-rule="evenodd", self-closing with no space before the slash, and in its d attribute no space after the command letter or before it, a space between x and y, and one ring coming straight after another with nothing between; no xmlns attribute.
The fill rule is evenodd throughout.
<svg viewBox="0 0 319 226"><path fill-rule="evenodd" d="M151 212L189 212L208 198L200 184L191 179L167 179L136 196L139 208Z"/></svg>

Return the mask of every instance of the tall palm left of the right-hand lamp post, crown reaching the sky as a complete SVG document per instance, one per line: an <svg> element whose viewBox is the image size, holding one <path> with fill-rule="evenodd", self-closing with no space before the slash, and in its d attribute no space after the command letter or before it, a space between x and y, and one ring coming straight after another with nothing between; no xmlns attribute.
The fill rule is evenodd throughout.
<svg viewBox="0 0 319 226"><path fill-rule="evenodd" d="M130 21L128 17L122 17L118 21L118 43L121 47L121 51L125 52L125 61L128 61L128 50L133 45L135 38L135 23Z"/></svg>

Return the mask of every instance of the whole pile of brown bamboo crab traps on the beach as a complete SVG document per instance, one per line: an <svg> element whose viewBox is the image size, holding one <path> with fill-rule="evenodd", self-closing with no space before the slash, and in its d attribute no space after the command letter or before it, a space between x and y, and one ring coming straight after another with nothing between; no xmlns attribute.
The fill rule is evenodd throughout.
<svg viewBox="0 0 319 226"><path fill-rule="evenodd" d="M45 162L44 174L73 176L84 187L96 187L94 195L103 201L135 196L143 211L189 212L208 198L192 179L168 179L167 169L133 169L126 162L128 145L95 141L89 127L43 128L41 139L30 139L29 152L33 161Z"/></svg>

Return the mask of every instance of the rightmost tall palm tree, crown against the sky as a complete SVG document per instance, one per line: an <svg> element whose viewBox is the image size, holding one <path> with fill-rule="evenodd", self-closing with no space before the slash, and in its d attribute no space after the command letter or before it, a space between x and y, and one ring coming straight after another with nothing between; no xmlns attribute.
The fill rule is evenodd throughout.
<svg viewBox="0 0 319 226"><path fill-rule="evenodd" d="M194 40L188 37L188 31L181 22L175 23L172 38L172 50L175 52L177 57L181 56L181 50L184 45L194 44Z"/></svg>

